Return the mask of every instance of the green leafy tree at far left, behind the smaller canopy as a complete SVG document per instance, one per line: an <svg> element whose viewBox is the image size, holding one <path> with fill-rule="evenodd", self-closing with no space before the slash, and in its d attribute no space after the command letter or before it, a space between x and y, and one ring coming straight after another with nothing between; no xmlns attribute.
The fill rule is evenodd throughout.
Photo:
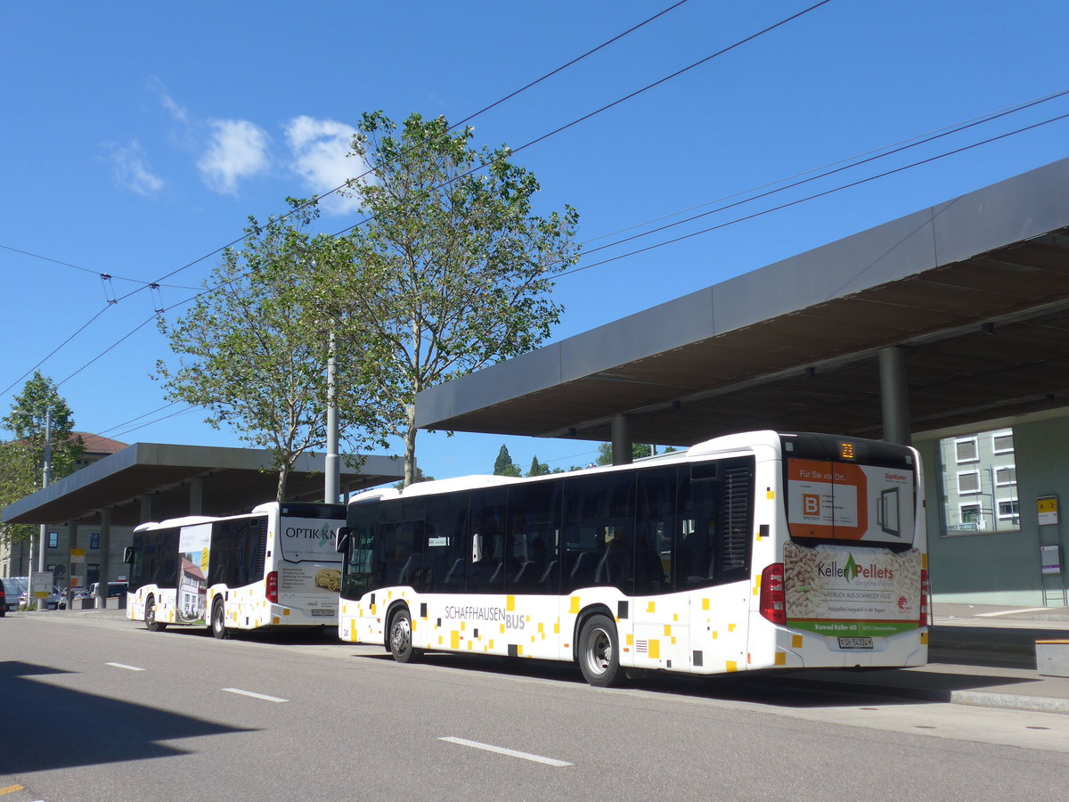
<svg viewBox="0 0 1069 802"><path fill-rule="evenodd" d="M13 435L0 443L0 509L40 490L44 481L45 441L49 444L50 481L78 468L83 443L74 434L74 415L56 383L40 372L13 398L11 414L0 425ZM4 524L0 541L27 540L32 526Z"/></svg>

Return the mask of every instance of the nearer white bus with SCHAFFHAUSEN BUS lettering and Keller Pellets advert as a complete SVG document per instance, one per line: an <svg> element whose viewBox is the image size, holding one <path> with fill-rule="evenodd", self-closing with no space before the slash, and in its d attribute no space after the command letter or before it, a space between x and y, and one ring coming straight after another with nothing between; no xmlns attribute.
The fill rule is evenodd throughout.
<svg viewBox="0 0 1069 802"><path fill-rule="evenodd" d="M771 431L626 466L466 477L348 506L339 635L623 668L923 665L913 448Z"/></svg>

